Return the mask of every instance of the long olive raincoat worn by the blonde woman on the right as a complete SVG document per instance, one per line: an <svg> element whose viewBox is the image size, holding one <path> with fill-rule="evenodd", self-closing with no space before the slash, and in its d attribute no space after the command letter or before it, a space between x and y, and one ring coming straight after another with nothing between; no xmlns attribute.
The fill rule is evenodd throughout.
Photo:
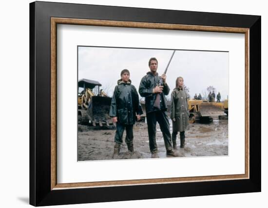
<svg viewBox="0 0 268 208"><path fill-rule="evenodd" d="M174 88L171 94L171 119L173 131L185 131L189 127L189 111L187 93L183 89Z"/></svg>

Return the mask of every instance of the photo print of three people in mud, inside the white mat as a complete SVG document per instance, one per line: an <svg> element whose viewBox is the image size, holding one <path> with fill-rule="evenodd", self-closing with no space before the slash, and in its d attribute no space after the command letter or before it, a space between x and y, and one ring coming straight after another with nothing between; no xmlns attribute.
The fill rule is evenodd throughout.
<svg viewBox="0 0 268 208"><path fill-rule="evenodd" d="M229 52L77 46L77 160L228 156Z"/></svg>

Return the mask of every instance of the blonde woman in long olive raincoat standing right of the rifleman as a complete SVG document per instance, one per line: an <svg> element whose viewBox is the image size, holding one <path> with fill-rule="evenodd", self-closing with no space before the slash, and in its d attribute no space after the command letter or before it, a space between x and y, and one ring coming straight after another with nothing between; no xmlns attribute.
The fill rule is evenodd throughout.
<svg viewBox="0 0 268 208"><path fill-rule="evenodd" d="M176 88L171 94L172 144L177 149L177 134L180 132L180 147L185 145L185 130L189 128L187 93L183 90L183 78L176 79ZM196 95L196 94L195 94Z"/></svg>

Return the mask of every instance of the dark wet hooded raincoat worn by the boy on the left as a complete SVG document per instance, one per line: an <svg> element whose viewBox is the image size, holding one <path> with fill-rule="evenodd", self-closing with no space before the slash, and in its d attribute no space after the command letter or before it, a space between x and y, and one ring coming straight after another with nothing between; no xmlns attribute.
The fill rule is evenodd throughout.
<svg viewBox="0 0 268 208"><path fill-rule="evenodd" d="M115 86L109 115L117 117L117 121L121 124L128 125L135 123L136 113L142 114L137 90L131 85L131 80L125 83L119 79Z"/></svg>

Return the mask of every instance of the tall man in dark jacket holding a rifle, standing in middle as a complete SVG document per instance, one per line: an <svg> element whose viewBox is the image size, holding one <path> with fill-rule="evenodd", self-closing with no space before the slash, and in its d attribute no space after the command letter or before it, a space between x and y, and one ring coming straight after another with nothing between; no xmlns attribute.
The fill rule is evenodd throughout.
<svg viewBox="0 0 268 208"><path fill-rule="evenodd" d="M152 153L152 158L158 157L155 139L156 121L159 123L163 134L167 155L178 156L178 154L172 150L170 123L165 112L167 111L165 95L168 95L170 92L170 88L166 83L166 74L162 74L161 77L158 76L158 73L156 72L158 68L158 61L156 58L150 58L149 68L150 71L147 72L147 74L140 81L139 94L141 97L145 97L149 146ZM163 86L158 86L161 78L163 79ZM160 104L159 106L155 107L154 103L157 95L160 98Z"/></svg>

